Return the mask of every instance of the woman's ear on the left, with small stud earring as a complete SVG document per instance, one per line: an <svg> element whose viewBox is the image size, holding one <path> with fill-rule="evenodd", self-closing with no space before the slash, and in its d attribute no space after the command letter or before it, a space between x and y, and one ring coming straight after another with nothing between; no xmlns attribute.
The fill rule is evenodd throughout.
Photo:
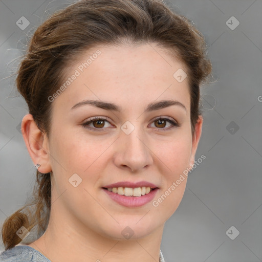
<svg viewBox="0 0 262 262"><path fill-rule="evenodd" d="M31 114L23 118L21 122L21 131L34 165L40 164L38 171L41 173L52 171L48 138L46 134L42 133L37 127Z"/></svg>

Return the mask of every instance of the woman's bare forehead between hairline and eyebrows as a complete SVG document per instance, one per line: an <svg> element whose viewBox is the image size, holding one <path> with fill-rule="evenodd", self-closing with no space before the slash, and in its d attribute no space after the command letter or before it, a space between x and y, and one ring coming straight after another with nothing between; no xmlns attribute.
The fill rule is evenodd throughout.
<svg viewBox="0 0 262 262"><path fill-rule="evenodd" d="M73 106L84 99L100 99L124 107L176 99L189 106L188 79L178 81L176 72L185 73L185 65L156 45L100 46L70 64L64 91L55 103Z"/></svg>

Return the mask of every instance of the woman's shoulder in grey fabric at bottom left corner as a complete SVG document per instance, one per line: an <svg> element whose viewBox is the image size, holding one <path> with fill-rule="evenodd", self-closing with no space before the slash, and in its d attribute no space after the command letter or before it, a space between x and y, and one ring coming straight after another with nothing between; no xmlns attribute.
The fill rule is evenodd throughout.
<svg viewBox="0 0 262 262"><path fill-rule="evenodd" d="M47 257L29 246L18 245L0 253L0 262L51 262Z"/></svg>

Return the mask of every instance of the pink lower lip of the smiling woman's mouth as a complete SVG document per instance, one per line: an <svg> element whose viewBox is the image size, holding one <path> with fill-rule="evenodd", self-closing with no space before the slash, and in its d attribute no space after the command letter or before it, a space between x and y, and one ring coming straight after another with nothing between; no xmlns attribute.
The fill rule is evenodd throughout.
<svg viewBox="0 0 262 262"><path fill-rule="evenodd" d="M156 188L151 190L148 194L141 195L141 197L126 197L125 195L113 193L104 188L102 189L112 200L125 207L141 207L154 199L159 190L159 188Z"/></svg>

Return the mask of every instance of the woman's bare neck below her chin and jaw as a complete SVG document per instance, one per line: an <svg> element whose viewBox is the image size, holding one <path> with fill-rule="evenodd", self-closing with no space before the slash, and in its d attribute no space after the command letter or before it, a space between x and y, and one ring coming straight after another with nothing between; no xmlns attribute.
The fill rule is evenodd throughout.
<svg viewBox="0 0 262 262"><path fill-rule="evenodd" d="M141 238L113 239L72 221L72 217L66 221L64 217L62 212L51 209L46 232L28 246L52 262L159 261L164 225Z"/></svg>

